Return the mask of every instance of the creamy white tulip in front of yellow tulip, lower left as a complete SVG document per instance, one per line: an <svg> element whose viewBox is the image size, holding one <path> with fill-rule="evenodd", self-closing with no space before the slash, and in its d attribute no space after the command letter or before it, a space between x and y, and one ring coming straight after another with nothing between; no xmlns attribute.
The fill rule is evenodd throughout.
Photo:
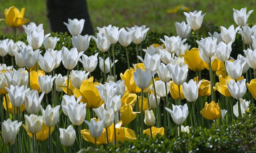
<svg viewBox="0 0 256 153"><path fill-rule="evenodd" d="M41 115L30 114L29 116L24 114L24 118L27 125L27 132L32 134L38 133L42 129Z"/></svg>

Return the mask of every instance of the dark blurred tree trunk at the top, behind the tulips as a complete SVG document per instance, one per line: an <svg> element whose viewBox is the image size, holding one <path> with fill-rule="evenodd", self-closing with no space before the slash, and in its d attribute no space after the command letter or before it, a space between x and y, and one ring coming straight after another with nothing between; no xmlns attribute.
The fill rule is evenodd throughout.
<svg viewBox="0 0 256 153"><path fill-rule="evenodd" d="M53 32L68 32L68 19L84 19L81 35L94 35L86 0L46 0L47 17ZM70 33L69 33L70 34Z"/></svg>

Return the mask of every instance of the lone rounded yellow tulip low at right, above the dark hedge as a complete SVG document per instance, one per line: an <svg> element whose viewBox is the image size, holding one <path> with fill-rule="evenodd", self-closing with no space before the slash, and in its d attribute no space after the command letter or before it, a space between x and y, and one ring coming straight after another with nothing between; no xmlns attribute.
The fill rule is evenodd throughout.
<svg viewBox="0 0 256 153"><path fill-rule="evenodd" d="M211 101L209 104L206 102L200 113L204 118L209 120L219 119L221 117L221 109L218 103L216 104L214 101Z"/></svg>

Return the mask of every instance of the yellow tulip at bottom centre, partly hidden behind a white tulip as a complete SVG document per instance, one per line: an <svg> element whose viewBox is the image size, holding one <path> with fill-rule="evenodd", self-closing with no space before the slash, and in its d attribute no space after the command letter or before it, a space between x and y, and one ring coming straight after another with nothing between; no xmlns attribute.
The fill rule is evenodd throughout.
<svg viewBox="0 0 256 153"><path fill-rule="evenodd" d="M122 121L119 121L116 123L116 136L121 128L121 125L122 125ZM84 140L95 144L95 138L93 138L91 136L90 130L87 130L87 129L81 130L81 134L82 134L82 137ZM109 143L111 143L114 140L114 123L108 128L108 140L109 140ZM99 136L96 139L96 144L97 145L106 145L107 144L105 128L103 128L103 132L102 132L101 136Z"/></svg>

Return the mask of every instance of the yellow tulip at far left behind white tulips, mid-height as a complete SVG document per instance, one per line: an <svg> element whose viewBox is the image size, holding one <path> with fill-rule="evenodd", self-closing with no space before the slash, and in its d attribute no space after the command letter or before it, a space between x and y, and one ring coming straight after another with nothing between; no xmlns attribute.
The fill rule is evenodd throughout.
<svg viewBox="0 0 256 153"><path fill-rule="evenodd" d="M38 84L38 76L45 75L44 71L38 70L38 71L30 71L30 88L37 90L38 93L41 93L41 90L39 88Z"/></svg>

